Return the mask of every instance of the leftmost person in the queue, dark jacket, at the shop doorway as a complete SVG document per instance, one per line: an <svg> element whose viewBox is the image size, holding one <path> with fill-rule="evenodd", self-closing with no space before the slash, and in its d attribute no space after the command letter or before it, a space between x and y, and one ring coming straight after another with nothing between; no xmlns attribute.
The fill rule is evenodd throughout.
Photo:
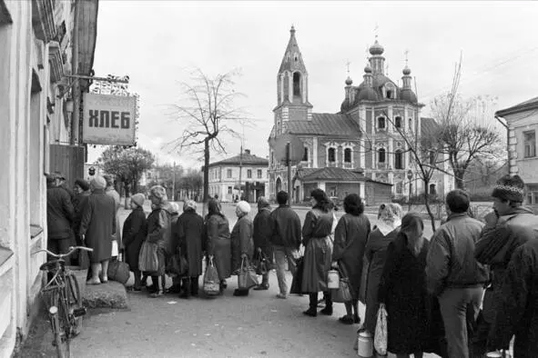
<svg viewBox="0 0 538 358"><path fill-rule="evenodd" d="M57 183L56 175L46 176L47 247L55 254L66 254L75 239L71 229L74 209L69 194Z"/></svg>

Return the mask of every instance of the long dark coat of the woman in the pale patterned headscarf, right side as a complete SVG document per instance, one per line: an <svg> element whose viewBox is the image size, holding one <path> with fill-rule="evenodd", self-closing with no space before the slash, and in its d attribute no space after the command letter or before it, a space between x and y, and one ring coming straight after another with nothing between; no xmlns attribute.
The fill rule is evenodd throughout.
<svg viewBox="0 0 538 358"><path fill-rule="evenodd" d="M366 313L364 314L364 327L375 333L377 323L377 313L380 307L378 292L380 288L381 275L387 258L389 244L400 233L400 228L396 228L386 235L380 229L374 229L366 243L364 258L368 260L368 273L366 279Z"/></svg>

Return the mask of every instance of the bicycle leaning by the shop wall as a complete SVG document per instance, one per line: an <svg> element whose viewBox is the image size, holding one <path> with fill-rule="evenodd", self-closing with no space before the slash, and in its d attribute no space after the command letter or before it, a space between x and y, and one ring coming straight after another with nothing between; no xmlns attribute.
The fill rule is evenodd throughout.
<svg viewBox="0 0 538 358"><path fill-rule="evenodd" d="M80 333L82 317L86 314L86 308L82 306L82 297L76 281L76 275L66 269L64 260L77 250L93 251L93 249L84 246L71 246L67 254L54 254L46 249L36 252L36 254L45 252L54 258L39 267L41 271L53 275L41 289L40 294L49 314L52 333L55 337L53 345L56 346L56 353L59 358L69 358L71 356L70 340Z"/></svg>

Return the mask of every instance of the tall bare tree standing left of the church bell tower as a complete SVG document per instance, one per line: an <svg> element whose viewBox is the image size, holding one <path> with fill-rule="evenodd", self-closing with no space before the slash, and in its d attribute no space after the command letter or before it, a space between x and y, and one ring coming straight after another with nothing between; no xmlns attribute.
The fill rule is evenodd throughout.
<svg viewBox="0 0 538 358"><path fill-rule="evenodd" d="M183 96L178 104L174 104L175 116L184 130L170 145L175 151L203 154L204 203L208 200L210 150L226 153L222 134L239 137L230 124L246 120L244 111L234 104L234 100L244 96L233 88L233 78L237 75L238 71L231 71L212 78L197 69L191 74L189 83L180 83Z"/></svg>

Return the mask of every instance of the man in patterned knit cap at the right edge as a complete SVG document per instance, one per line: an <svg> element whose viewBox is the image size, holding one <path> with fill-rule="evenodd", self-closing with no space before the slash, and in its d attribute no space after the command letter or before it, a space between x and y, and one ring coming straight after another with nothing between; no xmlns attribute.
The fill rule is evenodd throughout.
<svg viewBox="0 0 538 358"><path fill-rule="evenodd" d="M492 270L492 283L484 294L482 317L478 321L482 340L477 338L475 353L485 352L483 335L492 336L495 329L491 324L500 313L502 281L514 251L522 244L535 240L538 232L538 216L523 205L524 183L519 175L505 175L499 179L492 198L493 211L485 216L486 226L475 250L477 261L490 265ZM506 342L504 345L499 348L508 348Z"/></svg>

